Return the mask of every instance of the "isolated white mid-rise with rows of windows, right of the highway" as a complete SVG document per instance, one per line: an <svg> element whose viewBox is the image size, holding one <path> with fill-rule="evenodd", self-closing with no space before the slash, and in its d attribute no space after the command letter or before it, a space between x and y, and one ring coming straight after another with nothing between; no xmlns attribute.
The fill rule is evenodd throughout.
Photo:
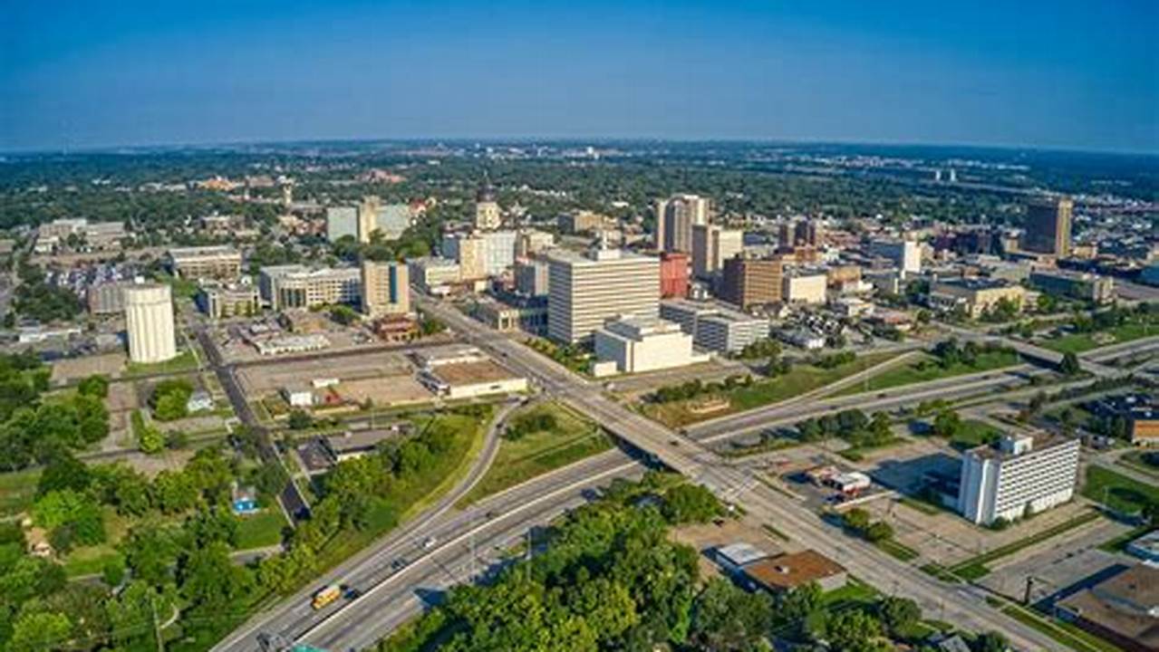
<svg viewBox="0 0 1159 652"><path fill-rule="evenodd" d="M1006 435L963 456L958 511L983 525L1041 512L1074 496L1078 470L1078 439Z"/></svg>

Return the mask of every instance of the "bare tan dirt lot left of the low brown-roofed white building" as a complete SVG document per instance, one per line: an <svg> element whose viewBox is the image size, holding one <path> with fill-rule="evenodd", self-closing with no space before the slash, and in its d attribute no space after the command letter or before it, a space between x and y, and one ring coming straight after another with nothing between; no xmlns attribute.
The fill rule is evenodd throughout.
<svg viewBox="0 0 1159 652"><path fill-rule="evenodd" d="M396 351L379 351L366 356L287 360L238 369L238 380L247 395L264 396L287 384L308 383L314 379L337 378L341 381L407 376L414 366Z"/></svg>

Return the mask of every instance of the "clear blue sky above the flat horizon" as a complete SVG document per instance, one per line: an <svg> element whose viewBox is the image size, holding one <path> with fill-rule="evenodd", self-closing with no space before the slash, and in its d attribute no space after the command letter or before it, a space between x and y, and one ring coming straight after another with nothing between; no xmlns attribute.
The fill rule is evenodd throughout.
<svg viewBox="0 0 1159 652"><path fill-rule="evenodd" d="M0 149L632 137L1159 152L1159 2L0 2Z"/></svg>

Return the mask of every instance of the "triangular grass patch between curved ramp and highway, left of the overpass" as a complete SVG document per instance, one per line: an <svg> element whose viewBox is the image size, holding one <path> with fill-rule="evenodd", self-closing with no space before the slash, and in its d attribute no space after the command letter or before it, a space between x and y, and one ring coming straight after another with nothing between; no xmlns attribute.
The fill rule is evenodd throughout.
<svg viewBox="0 0 1159 652"><path fill-rule="evenodd" d="M559 403L523 408L508 420L523 415L544 413L555 418L555 427L525 434L516 441L502 439L490 469L459 501L460 506L612 447L612 442L595 422Z"/></svg>

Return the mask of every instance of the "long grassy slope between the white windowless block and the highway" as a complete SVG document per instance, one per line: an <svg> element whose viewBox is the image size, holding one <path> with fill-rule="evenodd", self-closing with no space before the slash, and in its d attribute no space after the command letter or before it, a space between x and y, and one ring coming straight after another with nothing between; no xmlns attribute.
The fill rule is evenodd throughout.
<svg viewBox="0 0 1159 652"><path fill-rule="evenodd" d="M789 373L785 375L757 380L749 387L738 387L723 395L722 398L728 400L728 405L710 412L697 413L690 409L692 405L709 398L708 395L698 396L690 401L646 403L642 405L642 411L647 417L668 426L685 426L705 419L743 412L800 396L807 391L812 391L862 369L884 362L896 356L896 352L870 353L831 369L811 365L794 365Z"/></svg>

